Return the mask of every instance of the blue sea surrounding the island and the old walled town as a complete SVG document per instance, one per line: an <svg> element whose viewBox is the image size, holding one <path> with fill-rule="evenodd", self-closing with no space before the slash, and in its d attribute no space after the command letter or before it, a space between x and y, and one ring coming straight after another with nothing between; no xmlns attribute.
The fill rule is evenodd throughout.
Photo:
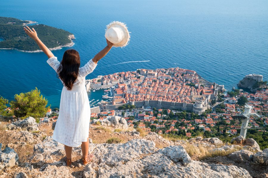
<svg viewBox="0 0 268 178"><path fill-rule="evenodd" d="M178 66L228 90L246 74L268 80L267 0L1 0L0 16L73 33L71 48L79 51L81 66L105 47L107 24L126 23L129 45L113 48L86 79ZM61 60L67 49L53 53ZM0 50L0 95L12 100L16 93L37 87L52 107L58 107L62 84L46 60L43 53Z"/></svg>

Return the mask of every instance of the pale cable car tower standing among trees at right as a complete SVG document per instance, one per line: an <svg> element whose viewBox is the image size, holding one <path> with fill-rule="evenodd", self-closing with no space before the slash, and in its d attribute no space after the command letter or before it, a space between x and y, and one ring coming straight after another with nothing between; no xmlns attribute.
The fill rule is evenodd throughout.
<svg viewBox="0 0 268 178"><path fill-rule="evenodd" d="M248 121L250 120L250 115L255 115L257 117L260 117L257 113L253 112L251 113L253 107L250 103L246 103L245 105L245 111L244 113L241 111L241 114L238 116L233 116L233 118L240 118L243 119L242 120L242 126L241 126L241 130L240 130L240 136L243 136L243 138L246 138L247 136L247 129L250 128L248 127Z"/></svg>

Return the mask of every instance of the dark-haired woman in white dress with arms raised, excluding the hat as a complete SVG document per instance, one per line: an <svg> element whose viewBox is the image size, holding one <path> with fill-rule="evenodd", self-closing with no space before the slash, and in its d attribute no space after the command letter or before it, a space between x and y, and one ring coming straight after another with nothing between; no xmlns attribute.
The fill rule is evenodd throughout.
<svg viewBox="0 0 268 178"><path fill-rule="evenodd" d="M54 129L53 139L64 144L66 152L66 166L71 166L72 147L82 147L83 165L87 165L93 158L88 155L88 132L90 123L90 106L85 88L85 76L90 74L112 48L113 44L106 39L107 46L100 51L85 66L80 67L80 56L76 50L66 50L61 62L38 38L34 28L24 27L24 31L35 40L40 49L49 58L47 63L57 72L63 83L60 98L60 113Z"/></svg>

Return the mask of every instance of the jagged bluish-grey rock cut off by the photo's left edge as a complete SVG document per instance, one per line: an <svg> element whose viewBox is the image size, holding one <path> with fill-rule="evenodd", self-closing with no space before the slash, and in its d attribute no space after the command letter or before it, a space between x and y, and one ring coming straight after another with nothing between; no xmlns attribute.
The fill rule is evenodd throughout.
<svg viewBox="0 0 268 178"><path fill-rule="evenodd" d="M18 154L10 147L0 150L0 171L4 168L13 167L18 164Z"/></svg>

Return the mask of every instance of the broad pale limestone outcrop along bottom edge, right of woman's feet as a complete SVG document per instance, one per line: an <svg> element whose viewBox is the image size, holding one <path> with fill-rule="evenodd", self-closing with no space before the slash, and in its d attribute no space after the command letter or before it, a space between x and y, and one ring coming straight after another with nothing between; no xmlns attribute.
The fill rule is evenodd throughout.
<svg viewBox="0 0 268 178"><path fill-rule="evenodd" d="M236 166L215 165L215 170L212 170L207 163L191 160L180 145L169 146L156 152L154 144L144 139L131 140L125 144L91 145L92 152L100 161L98 166L88 166L84 170L85 177L92 177L93 169L97 169L100 178L251 177L247 171ZM122 155L122 153L124 154Z"/></svg>

